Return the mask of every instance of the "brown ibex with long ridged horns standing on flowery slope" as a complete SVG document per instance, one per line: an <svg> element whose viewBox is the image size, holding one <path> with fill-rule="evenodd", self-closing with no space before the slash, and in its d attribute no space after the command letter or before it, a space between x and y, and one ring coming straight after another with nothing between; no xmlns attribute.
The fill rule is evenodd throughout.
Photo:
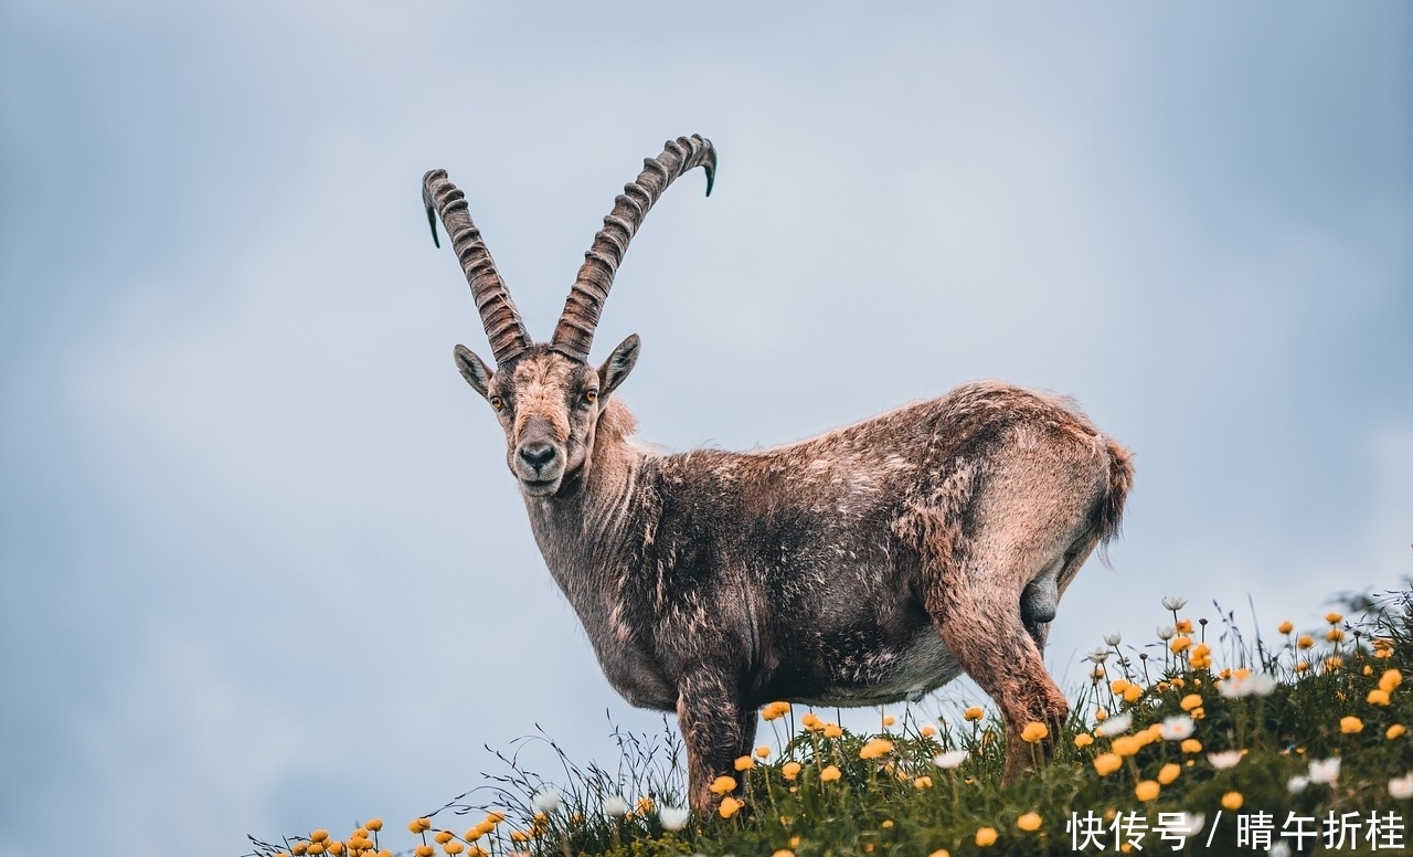
<svg viewBox="0 0 1413 857"><path fill-rule="evenodd" d="M962 670L1000 707L1013 778L1031 758L1022 728L1068 713L1041 649L1060 594L1118 529L1129 453L1063 400L993 382L755 453L634 445L613 393L639 338L596 369L589 345L643 216L695 167L709 194L716 154L697 136L644 161L548 344L530 339L462 192L442 170L422 180L496 358L458 345L456 366L504 428L550 573L613 689L677 711L695 812L750 752L762 704L917 700Z"/></svg>

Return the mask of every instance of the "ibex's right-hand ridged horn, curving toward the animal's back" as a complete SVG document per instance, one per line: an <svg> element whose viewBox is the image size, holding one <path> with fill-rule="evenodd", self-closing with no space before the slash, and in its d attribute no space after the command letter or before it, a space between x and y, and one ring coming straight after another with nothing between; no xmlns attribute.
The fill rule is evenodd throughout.
<svg viewBox="0 0 1413 857"><path fill-rule="evenodd" d="M716 180L716 150L711 140L692 134L668 140L663 146L663 154L644 158L637 180L623 185L623 192L613 201L613 211L603 218L603 229L593 236L593 245L584 255L584 266L579 267L550 341L550 348L568 358L588 362L593 330L599 325L599 313L613 286L613 274L627 252L627 242L633 240L647 209L653 208L667 185L695 167L702 167L706 170L706 195L711 195L711 185Z"/></svg>

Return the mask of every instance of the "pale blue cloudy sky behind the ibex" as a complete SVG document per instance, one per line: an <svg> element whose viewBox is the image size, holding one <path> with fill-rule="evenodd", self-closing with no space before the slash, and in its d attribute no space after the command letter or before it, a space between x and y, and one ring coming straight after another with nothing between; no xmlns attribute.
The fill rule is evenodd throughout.
<svg viewBox="0 0 1413 857"><path fill-rule="evenodd" d="M544 571L418 180L536 335L702 133L595 358L673 448L975 378L1136 454L1057 673L1157 600L1318 624L1413 574L1413 7L11 0L0 857L400 822L619 700ZM1211 608L1207 615L1215 614ZM158 847L161 844L161 847Z"/></svg>

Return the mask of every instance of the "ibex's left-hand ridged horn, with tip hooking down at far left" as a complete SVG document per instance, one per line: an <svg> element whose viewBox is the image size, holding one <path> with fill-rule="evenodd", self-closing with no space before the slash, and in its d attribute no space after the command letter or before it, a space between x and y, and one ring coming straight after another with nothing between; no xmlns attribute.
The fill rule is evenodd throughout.
<svg viewBox="0 0 1413 857"><path fill-rule="evenodd" d="M432 228L432 240L438 247L441 242L437 239L437 215L441 215L451 238L451 247L466 273L466 283L471 284L471 296L476 301L476 311L480 313L480 322L486 327L490 354L495 355L496 363L504 363L530 348L530 332L520 320L520 310L516 310L514 301L510 300L510 291L496 272L490 250L480 240L480 231L471 222L466 195L447 178L445 170L432 170L422 177L422 205L427 206L427 223Z"/></svg>

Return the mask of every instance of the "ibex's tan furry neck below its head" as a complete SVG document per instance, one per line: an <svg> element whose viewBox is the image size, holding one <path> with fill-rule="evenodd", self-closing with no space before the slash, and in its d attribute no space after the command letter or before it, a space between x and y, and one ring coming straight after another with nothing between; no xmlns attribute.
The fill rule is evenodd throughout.
<svg viewBox="0 0 1413 857"><path fill-rule="evenodd" d="M643 453L629 443L636 427L627 407L616 396L609 399L585 472L555 496L526 496L540 553L577 610L586 591L603 591L602 576L625 550L643 464Z"/></svg>

